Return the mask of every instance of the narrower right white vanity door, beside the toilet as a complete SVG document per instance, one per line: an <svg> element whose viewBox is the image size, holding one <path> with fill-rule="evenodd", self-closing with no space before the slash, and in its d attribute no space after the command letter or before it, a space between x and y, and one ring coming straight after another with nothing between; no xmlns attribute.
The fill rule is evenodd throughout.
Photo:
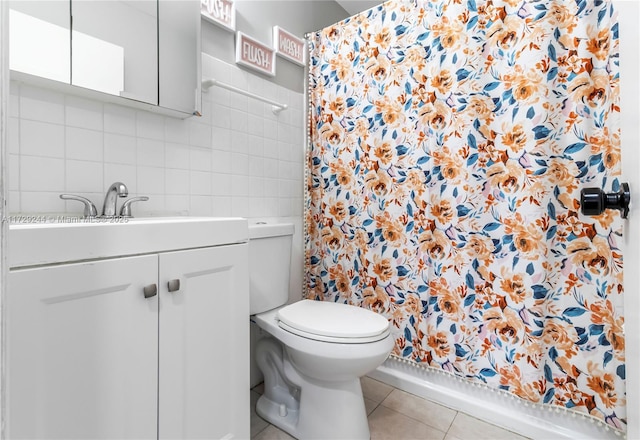
<svg viewBox="0 0 640 440"><path fill-rule="evenodd" d="M160 255L160 439L249 438L248 289L246 244Z"/></svg>

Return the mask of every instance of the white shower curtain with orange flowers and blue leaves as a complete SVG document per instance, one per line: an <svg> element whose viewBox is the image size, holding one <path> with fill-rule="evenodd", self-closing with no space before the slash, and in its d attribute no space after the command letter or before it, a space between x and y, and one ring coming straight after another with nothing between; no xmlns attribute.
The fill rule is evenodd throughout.
<svg viewBox="0 0 640 440"><path fill-rule="evenodd" d="M307 297L393 354L625 430L604 0L391 0L310 36Z"/></svg>

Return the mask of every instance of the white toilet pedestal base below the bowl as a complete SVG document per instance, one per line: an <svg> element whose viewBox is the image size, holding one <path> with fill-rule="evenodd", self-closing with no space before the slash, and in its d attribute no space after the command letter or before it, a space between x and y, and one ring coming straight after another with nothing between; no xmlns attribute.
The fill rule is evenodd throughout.
<svg viewBox="0 0 640 440"><path fill-rule="evenodd" d="M308 378L291 364L279 341L266 338L259 347L258 365L265 376L265 391L256 404L260 417L299 440L370 438L360 378Z"/></svg>

